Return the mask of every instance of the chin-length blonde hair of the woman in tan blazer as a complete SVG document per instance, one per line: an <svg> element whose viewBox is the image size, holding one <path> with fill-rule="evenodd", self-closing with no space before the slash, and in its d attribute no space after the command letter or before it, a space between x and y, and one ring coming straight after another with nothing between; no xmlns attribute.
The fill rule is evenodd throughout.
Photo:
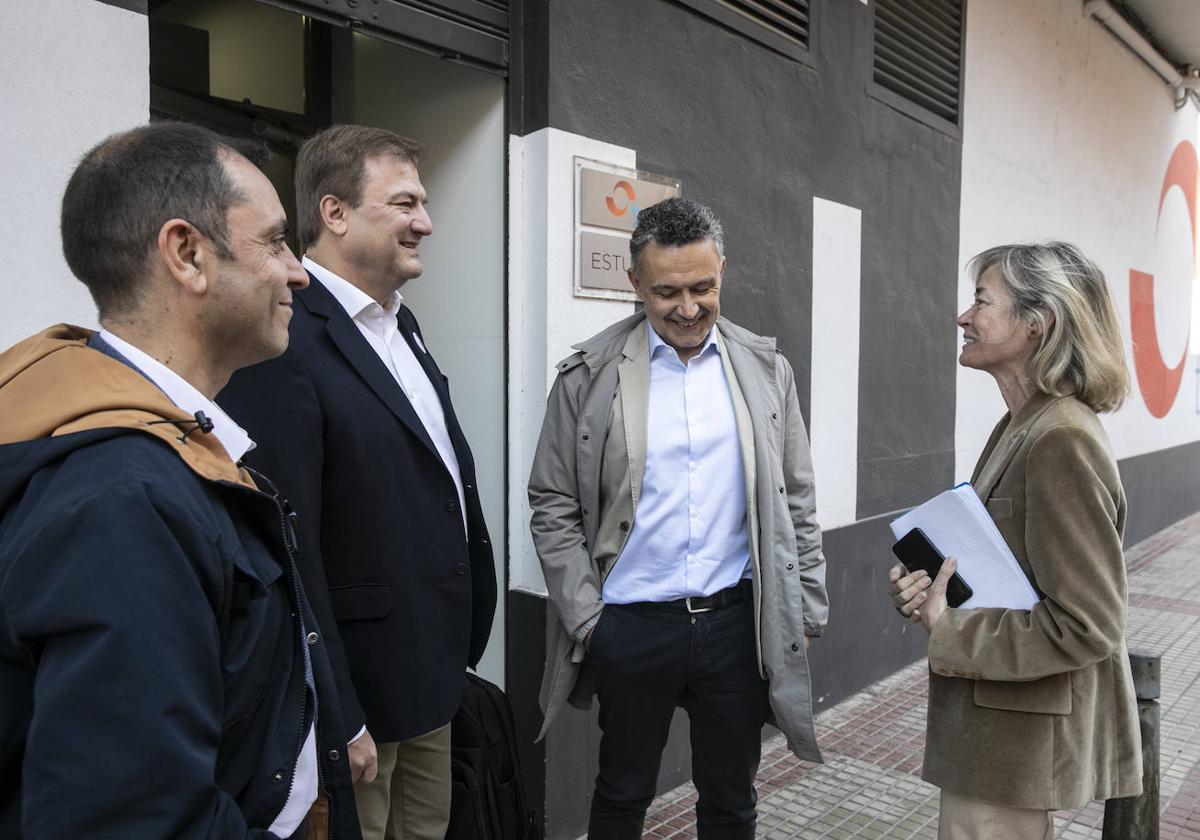
<svg viewBox="0 0 1200 840"><path fill-rule="evenodd" d="M967 263L971 278L996 266L1013 295L1013 314L1040 328L1030 360L1038 390L1074 394L1111 412L1129 392L1129 367L1104 272L1068 242L1000 245Z"/></svg>

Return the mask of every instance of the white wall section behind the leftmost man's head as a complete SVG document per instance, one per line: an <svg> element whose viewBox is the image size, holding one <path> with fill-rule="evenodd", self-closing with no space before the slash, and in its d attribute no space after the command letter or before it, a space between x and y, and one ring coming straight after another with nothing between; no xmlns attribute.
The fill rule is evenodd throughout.
<svg viewBox="0 0 1200 840"><path fill-rule="evenodd" d="M94 326L59 239L83 154L150 114L146 18L95 0L6 0L0 26L0 348L59 322Z"/></svg>

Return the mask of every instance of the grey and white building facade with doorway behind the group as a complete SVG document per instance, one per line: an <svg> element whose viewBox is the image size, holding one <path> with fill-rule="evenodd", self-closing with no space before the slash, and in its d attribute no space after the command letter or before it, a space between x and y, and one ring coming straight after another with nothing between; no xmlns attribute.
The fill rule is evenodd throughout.
<svg viewBox="0 0 1200 840"><path fill-rule="evenodd" d="M14 0L0 17L2 346L94 323L58 202L113 131L154 116L259 137L286 204L324 125L426 145L434 233L404 295L505 535L481 672L512 698L550 838L586 826L598 731L572 712L533 743L554 618L524 482L554 362L632 312L580 286L582 234L636 210L629 179L716 210L724 311L796 368L833 600L818 709L923 652L883 595L887 523L967 478L1004 410L955 362L978 251L1057 238L1100 263L1135 372L1105 418L1127 539L1200 510L1198 112L1081 0ZM587 167L628 187L600 227L581 216ZM688 772L676 734L664 786Z"/></svg>

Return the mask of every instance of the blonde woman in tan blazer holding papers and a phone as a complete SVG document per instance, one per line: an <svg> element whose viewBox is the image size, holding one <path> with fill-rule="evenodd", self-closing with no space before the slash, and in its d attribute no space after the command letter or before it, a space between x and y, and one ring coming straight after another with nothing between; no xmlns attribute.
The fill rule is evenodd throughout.
<svg viewBox="0 0 1200 840"><path fill-rule="evenodd" d="M1008 404L972 482L1042 600L954 610L936 580L892 569L900 613L929 631L923 776L938 836L1052 836L1051 812L1141 791L1126 652L1126 498L1097 412L1128 391L1104 275L1074 246L1007 245L970 264L959 362Z"/></svg>

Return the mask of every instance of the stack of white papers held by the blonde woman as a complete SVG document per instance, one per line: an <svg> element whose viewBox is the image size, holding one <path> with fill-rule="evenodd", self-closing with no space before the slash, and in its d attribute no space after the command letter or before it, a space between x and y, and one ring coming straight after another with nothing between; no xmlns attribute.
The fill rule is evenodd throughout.
<svg viewBox="0 0 1200 840"><path fill-rule="evenodd" d="M974 593L962 604L964 610L1031 610L1038 602L1037 592L970 482L935 496L892 522L898 540L913 528L925 532L942 557L958 560L959 575Z"/></svg>

